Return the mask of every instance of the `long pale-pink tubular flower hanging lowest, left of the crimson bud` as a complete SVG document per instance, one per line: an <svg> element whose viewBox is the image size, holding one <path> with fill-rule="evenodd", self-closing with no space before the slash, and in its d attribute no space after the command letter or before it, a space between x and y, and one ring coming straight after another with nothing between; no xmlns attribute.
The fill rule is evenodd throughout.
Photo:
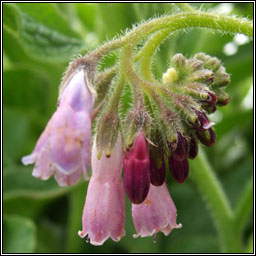
<svg viewBox="0 0 256 256"><path fill-rule="evenodd" d="M109 158L97 158L96 142L92 149L92 177L83 211L83 229L79 235L93 245L102 245L109 237L118 242L124 235L125 196L121 178L122 140L119 137Z"/></svg>

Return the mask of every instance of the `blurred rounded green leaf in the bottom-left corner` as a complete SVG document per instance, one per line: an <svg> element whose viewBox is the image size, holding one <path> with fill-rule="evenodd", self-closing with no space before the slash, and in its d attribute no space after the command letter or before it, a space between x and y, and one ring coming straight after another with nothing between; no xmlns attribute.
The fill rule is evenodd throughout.
<svg viewBox="0 0 256 256"><path fill-rule="evenodd" d="M33 253L35 245L36 226L32 220L20 216L4 217L4 253Z"/></svg>

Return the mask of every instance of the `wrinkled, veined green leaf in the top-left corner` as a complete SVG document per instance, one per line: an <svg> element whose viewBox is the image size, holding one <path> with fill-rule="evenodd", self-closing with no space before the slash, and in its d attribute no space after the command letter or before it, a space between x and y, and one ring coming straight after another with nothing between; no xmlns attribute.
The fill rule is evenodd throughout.
<svg viewBox="0 0 256 256"><path fill-rule="evenodd" d="M27 54L35 59L67 61L84 48L83 42L50 3L19 3L15 7L8 7L8 11L12 12L9 15L13 17L12 21L14 17L19 20L17 40ZM15 23L7 19L7 24L14 27Z"/></svg>

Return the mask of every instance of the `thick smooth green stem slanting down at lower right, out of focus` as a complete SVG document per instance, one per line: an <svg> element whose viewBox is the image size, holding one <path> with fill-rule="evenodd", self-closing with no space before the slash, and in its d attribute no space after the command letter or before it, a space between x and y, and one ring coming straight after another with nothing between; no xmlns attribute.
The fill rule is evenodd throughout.
<svg viewBox="0 0 256 256"><path fill-rule="evenodd" d="M200 148L200 154L190 161L190 177L200 189L207 205L210 206L213 219L219 232L223 252L241 252L239 233L235 232L233 211L215 173Z"/></svg>

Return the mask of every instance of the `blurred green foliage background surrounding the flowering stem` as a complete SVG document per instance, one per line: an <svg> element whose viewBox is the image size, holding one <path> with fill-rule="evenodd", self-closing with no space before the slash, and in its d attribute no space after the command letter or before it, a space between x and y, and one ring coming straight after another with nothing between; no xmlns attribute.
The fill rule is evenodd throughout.
<svg viewBox="0 0 256 256"><path fill-rule="evenodd" d="M200 8L201 4L193 4ZM252 3L204 4L203 9L252 19ZM169 190L183 224L168 237L133 239L131 205L126 204L126 236L94 247L81 239L81 216L87 182L60 188L55 180L37 180L29 154L56 109L58 85L70 59L133 24L177 12L167 3L17 3L3 4L3 250L16 253L218 253L213 220L190 178L177 184L168 173ZM170 56L205 52L220 58L231 74L230 104L210 119L217 142L205 148L209 162L234 206L253 172L253 44L241 36L189 30L171 36L160 47L155 74L167 69ZM110 65L115 57L105 59ZM190 170L193 172L193 169ZM249 206L250 207L250 206ZM253 232L251 214L244 230Z"/></svg>

